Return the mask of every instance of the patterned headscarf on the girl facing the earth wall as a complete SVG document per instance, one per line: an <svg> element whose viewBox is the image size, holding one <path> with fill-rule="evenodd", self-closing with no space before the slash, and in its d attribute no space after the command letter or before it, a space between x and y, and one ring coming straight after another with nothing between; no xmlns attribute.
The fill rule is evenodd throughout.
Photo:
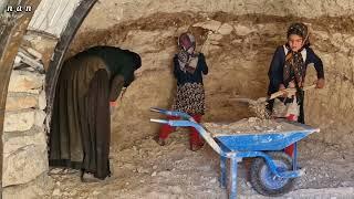
<svg viewBox="0 0 354 199"><path fill-rule="evenodd" d="M180 34L178 38L178 48L179 52L177 56L180 70L184 72L187 71L189 73L194 73L198 63L198 54L195 52L195 36L190 33Z"/></svg>

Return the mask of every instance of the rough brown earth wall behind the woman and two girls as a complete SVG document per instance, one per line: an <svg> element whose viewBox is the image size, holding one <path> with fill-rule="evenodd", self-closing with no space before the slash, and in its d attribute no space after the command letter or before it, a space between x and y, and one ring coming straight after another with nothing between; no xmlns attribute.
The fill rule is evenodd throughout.
<svg viewBox="0 0 354 199"><path fill-rule="evenodd" d="M138 52L143 66L113 115L113 145L123 147L154 135L152 106L170 107L175 93L171 59L179 33L190 30L207 56L205 121L237 121L251 116L229 102L232 95L266 95L267 72L285 29L303 21L312 48L322 57L326 86L306 93L308 124L319 126L314 140L354 145L354 2L347 1L117 1L95 4L71 45L71 56L93 45L115 45ZM309 72L309 78L315 76ZM309 80L310 82L311 80Z"/></svg>

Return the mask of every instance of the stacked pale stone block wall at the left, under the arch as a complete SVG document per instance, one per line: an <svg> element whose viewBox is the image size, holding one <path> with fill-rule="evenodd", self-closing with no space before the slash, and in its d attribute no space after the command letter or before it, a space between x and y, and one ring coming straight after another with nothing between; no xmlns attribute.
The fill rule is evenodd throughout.
<svg viewBox="0 0 354 199"><path fill-rule="evenodd" d="M44 77L23 60L13 65L2 137L3 198L39 198L44 190L39 185L48 182Z"/></svg>

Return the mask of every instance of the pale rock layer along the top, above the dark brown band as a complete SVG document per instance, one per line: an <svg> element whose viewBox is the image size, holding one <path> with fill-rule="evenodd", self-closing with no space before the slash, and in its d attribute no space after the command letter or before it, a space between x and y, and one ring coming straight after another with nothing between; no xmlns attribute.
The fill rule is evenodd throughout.
<svg viewBox="0 0 354 199"><path fill-rule="evenodd" d="M279 17L299 17L315 19L319 17L345 17L353 19L354 2L315 0L101 0L91 11L84 27L107 29L123 21L144 19L155 13L215 13L227 12L235 15L261 14Z"/></svg>

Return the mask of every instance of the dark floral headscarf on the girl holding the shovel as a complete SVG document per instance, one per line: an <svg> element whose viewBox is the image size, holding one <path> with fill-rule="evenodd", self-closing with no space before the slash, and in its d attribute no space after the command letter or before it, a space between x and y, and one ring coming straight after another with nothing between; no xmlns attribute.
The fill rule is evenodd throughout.
<svg viewBox="0 0 354 199"><path fill-rule="evenodd" d="M302 86L306 69L301 51L310 45L308 27L304 23L292 23L287 32L288 39L291 34L301 36L303 39L303 46L298 52L294 52L290 49L288 43L285 44L289 51L285 55L283 82L285 85L288 85L289 82L295 81L295 84L298 86Z"/></svg>

